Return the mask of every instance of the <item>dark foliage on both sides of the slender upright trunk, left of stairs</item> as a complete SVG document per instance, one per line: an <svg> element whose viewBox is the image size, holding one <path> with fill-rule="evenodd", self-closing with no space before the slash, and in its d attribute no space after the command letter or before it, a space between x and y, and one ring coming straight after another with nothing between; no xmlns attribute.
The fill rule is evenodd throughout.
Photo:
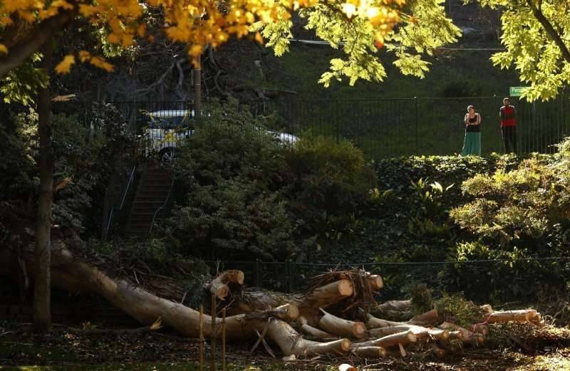
<svg viewBox="0 0 570 371"><path fill-rule="evenodd" d="M79 232L99 234L100 202L116 158L133 146L124 122L110 107L93 115L93 131L76 115L51 117L56 159L53 221ZM33 207L37 199L37 122L33 110L0 123L5 145L0 147L0 198L20 199Z"/></svg>

